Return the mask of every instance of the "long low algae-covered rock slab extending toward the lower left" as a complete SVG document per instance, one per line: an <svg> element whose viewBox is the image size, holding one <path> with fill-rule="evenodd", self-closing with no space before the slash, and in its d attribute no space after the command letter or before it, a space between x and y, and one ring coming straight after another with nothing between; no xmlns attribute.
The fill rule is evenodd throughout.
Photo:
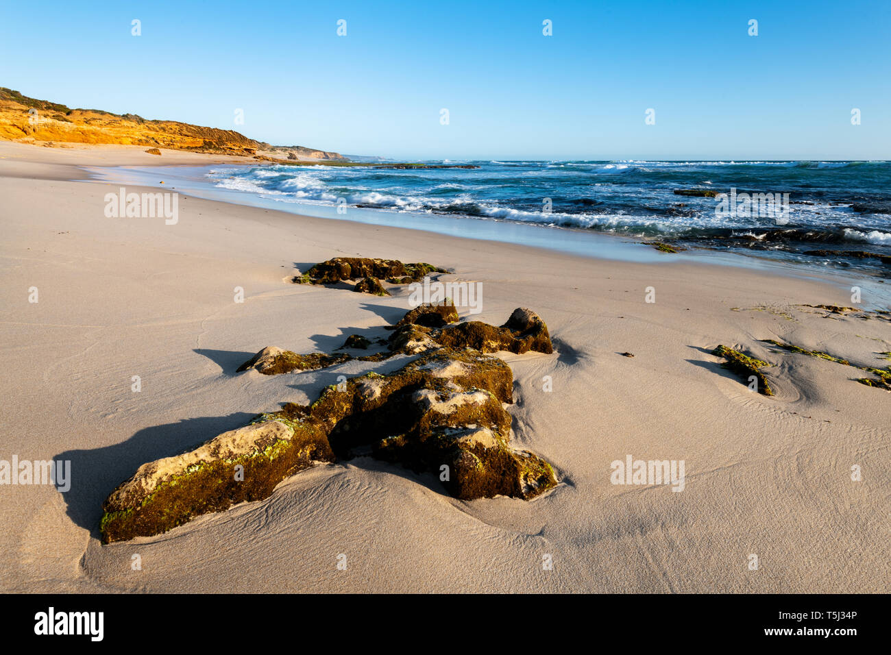
<svg viewBox="0 0 891 655"><path fill-rule="evenodd" d="M314 422L263 421L224 432L189 453L140 466L102 505L102 541L158 535L200 514L261 500L282 479L333 459Z"/></svg>

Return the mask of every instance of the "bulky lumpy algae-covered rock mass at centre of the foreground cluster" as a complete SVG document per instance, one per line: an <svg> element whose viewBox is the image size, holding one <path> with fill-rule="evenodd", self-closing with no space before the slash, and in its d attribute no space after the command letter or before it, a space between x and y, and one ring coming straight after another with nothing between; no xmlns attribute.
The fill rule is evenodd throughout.
<svg viewBox="0 0 891 655"><path fill-rule="evenodd" d="M470 500L533 498L556 485L551 466L509 446L511 368L495 356L440 348L388 376L364 376L325 389L308 415L333 422L338 456L362 454L437 476Z"/></svg>

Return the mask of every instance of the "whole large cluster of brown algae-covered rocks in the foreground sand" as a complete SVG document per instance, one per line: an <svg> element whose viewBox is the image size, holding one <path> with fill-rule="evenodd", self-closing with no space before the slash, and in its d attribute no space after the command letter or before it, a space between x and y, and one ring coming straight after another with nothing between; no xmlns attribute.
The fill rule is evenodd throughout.
<svg viewBox="0 0 891 655"><path fill-rule="evenodd" d="M103 504L102 541L158 535L200 514L266 498L282 479L316 463L360 455L433 474L462 500L528 500L555 487L549 463L510 445L504 405L513 402L513 373L489 354L552 353L547 325L523 307L500 327L457 320L451 304L416 307L391 326L387 352L360 357L416 355L396 372L349 378L323 389L311 405L282 405L188 453L143 464ZM344 347L370 345L356 336ZM269 347L239 370L295 373L350 358Z"/></svg>

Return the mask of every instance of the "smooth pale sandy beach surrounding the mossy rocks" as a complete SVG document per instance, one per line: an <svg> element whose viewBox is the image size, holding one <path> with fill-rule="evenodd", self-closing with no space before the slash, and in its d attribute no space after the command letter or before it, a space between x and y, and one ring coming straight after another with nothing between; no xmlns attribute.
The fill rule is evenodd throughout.
<svg viewBox="0 0 891 655"><path fill-rule="evenodd" d="M854 381L865 373L853 366L764 343L887 366L891 323L865 310L867 291L864 311L837 313L813 307L852 305L831 272L584 258L186 195L176 225L106 217L117 185L79 167L233 160L143 150L0 143L0 459L71 463L65 493L0 489L4 591L891 591L891 396ZM394 368L236 373L266 346L386 338L411 308L405 286L381 298L290 283L334 257L481 282L474 320L541 315L554 354L499 356L514 377L512 441L552 463L558 486L464 502L432 474L358 457L301 471L264 501L101 544L102 501L141 464L308 404L338 375ZM772 397L721 365L722 344L772 364ZM683 491L613 484L611 463L629 455L683 461Z"/></svg>

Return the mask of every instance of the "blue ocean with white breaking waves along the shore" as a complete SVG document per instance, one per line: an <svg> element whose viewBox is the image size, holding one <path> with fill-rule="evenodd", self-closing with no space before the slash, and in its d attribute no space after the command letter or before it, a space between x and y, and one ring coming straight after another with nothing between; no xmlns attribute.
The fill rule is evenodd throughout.
<svg viewBox="0 0 891 655"><path fill-rule="evenodd" d="M219 189L342 213L471 217L891 271L888 161L425 163L478 168L225 166L206 176ZM747 194L776 203L747 204Z"/></svg>

